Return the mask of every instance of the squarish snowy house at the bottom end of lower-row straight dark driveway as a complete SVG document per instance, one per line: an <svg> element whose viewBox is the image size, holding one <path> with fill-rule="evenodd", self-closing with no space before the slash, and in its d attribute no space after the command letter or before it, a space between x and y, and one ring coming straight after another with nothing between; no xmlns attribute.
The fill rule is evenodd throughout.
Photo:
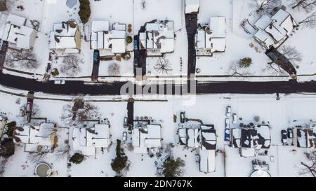
<svg viewBox="0 0 316 191"><path fill-rule="evenodd" d="M134 126L132 139L135 153L159 153L159 149L162 148L162 126Z"/></svg>

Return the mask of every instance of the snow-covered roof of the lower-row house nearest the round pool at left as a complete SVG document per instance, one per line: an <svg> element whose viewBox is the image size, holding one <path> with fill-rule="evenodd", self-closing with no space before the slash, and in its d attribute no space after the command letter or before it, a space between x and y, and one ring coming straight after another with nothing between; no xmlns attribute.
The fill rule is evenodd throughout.
<svg viewBox="0 0 316 191"><path fill-rule="evenodd" d="M15 136L22 143L37 146L53 146L55 136L55 124L42 122L40 125L24 125L15 129Z"/></svg>

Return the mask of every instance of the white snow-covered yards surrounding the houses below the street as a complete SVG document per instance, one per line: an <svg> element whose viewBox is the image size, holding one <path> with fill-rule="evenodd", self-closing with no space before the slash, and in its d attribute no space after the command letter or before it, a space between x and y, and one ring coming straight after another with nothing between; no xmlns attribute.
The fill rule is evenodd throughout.
<svg viewBox="0 0 316 191"><path fill-rule="evenodd" d="M39 94L40 95L40 94ZM37 97L37 94L35 94ZM20 104L17 99L20 98ZM60 97L62 98L62 97ZM275 95L238 95L238 94L218 94L197 96L184 100L176 97L159 99L157 101L136 101L134 104L134 117L147 116L157 120L162 125L162 138L164 148L169 143L176 144L177 122L173 122L173 115L179 115L180 111L185 111L187 118L203 120L205 124L215 125L219 151L216 154L216 171L210 174L199 172L199 165L195 162L195 151L185 149L176 145L171 148L171 155L185 160L184 176L249 176L252 170L251 161L254 159L265 160L270 165L269 173L272 176L301 176L301 162L305 161L304 152L308 149L282 146L280 130L291 127L291 121L300 120L308 122L315 120L314 110L316 98L312 95L287 94L280 95L280 100L275 99ZM9 94L0 94L0 111L6 113L9 121L18 120L20 106L25 104L26 99ZM93 97L87 97L93 100ZM95 100L98 97L94 98ZM100 99L99 99L100 100ZM67 127L60 120L62 107L68 101L57 101L49 99L35 99L34 104L40 108L40 116L48 118L49 121L57 122L58 144L62 148L65 140L69 140L71 145L72 127ZM123 119L126 116L126 101L93 101L98 106L102 118L108 118L111 125L113 144L109 149L105 149L103 154L95 157L86 157L81 164L72 164L67 167L67 155L58 155L58 148L55 153L43 158L43 161L50 164L53 171L57 171L54 176L114 176L115 173L110 167L110 163L115 156L116 140L121 139ZM224 120L225 107L232 107L232 113L237 113L243 121L251 121L255 115L261 120L269 122L271 125L272 146L269 155L266 157L240 157L237 148L230 148L224 141ZM234 127L231 124L231 127ZM5 165L2 176L34 176L34 167L37 162L29 160L29 154L25 153L23 146L15 146L15 155L9 158ZM71 150L71 148L70 148ZM295 151L294 151L295 150ZM126 155L129 157L131 166L126 176L156 176L154 162L157 157L150 158L147 155L140 155L129 151L125 146ZM225 153L225 157L224 157ZM274 162L270 162L270 156L274 157ZM236 165L238 164L238 165ZM304 176L308 176L305 174Z"/></svg>

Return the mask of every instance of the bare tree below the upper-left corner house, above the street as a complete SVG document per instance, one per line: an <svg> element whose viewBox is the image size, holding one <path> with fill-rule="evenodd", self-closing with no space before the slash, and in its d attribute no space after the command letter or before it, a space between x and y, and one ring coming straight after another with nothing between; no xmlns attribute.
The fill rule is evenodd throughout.
<svg viewBox="0 0 316 191"><path fill-rule="evenodd" d="M20 66L22 69L37 69L39 67L39 63L32 50L8 49L5 62L6 66L13 68Z"/></svg>

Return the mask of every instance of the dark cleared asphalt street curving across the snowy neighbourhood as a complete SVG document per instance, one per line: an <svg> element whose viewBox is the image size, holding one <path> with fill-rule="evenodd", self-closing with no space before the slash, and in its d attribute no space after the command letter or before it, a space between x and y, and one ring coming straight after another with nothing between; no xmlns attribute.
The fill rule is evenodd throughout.
<svg viewBox="0 0 316 191"><path fill-rule="evenodd" d="M55 85L53 81L41 83L37 80L0 73L0 84L20 90L44 92L48 94L90 94L119 95L125 82L85 85L81 81L67 81L65 85ZM158 87L159 85L157 85ZM165 86L165 85L164 85ZM173 85L173 93L176 85ZM185 90L185 85L181 87ZM166 87L165 87L166 89ZM136 89L135 89L136 90ZM274 94L274 93L316 92L316 82L222 82L197 84L197 94ZM159 92L157 92L159 93ZM136 93L135 93L136 94ZM138 92L137 94L140 94Z"/></svg>

